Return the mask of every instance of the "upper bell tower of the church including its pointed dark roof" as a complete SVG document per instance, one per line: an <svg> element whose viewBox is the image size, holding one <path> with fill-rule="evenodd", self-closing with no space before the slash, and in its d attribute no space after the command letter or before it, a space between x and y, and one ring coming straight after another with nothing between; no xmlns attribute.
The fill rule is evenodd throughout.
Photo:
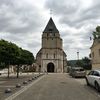
<svg viewBox="0 0 100 100"><path fill-rule="evenodd" d="M56 28L52 18L50 18L47 26L42 34L42 48L60 48L62 49L62 39L58 29Z"/></svg>

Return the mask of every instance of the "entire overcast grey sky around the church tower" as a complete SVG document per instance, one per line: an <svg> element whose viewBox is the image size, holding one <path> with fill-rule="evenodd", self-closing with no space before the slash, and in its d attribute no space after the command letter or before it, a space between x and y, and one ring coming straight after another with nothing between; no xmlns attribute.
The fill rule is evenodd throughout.
<svg viewBox="0 0 100 100"><path fill-rule="evenodd" d="M36 53L41 35L52 18L63 39L67 59L88 57L89 37L100 25L100 0L0 0L0 39Z"/></svg>

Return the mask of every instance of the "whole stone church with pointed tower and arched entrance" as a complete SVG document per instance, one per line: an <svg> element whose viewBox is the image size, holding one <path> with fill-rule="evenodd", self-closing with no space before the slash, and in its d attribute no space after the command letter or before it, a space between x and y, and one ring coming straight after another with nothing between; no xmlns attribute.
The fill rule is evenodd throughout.
<svg viewBox="0 0 100 100"><path fill-rule="evenodd" d="M50 17L42 34L42 47L36 55L37 71L63 73L67 67L67 55L56 25Z"/></svg>

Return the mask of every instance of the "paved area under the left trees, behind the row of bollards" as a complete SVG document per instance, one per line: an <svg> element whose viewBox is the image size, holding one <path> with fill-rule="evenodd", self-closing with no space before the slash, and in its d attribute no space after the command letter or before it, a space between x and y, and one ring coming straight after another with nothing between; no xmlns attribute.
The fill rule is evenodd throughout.
<svg viewBox="0 0 100 100"><path fill-rule="evenodd" d="M4 100L6 97L27 86L31 83L29 79L38 75L39 73L21 73L19 78L16 77L16 74L10 74L9 78L7 78L7 74L0 75L0 100ZM27 81L28 84L23 84L24 81ZM16 88L16 84L21 84L21 88ZM7 88L10 88L12 92L5 93Z"/></svg>

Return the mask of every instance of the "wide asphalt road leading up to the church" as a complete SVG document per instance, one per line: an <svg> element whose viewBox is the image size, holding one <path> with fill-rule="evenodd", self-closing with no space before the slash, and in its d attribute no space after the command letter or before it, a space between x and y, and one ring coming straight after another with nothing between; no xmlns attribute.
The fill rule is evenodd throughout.
<svg viewBox="0 0 100 100"><path fill-rule="evenodd" d="M100 100L100 93L88 87L84 79L68 74L48 74L34 82L6 100Z"/></svg>

